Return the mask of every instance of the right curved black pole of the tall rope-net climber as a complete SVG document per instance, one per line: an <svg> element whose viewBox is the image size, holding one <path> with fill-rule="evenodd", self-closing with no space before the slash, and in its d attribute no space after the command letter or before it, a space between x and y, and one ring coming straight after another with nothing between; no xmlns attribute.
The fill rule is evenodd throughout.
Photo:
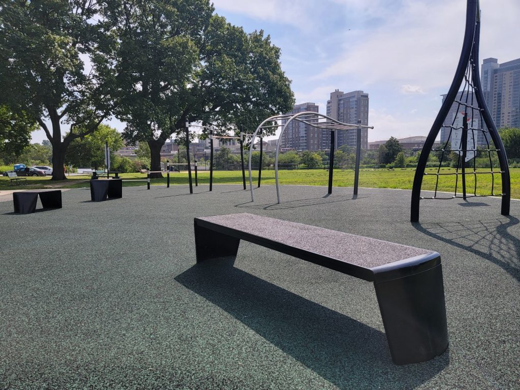
<svg viewBox="0 0 520 390"><path fill-rule="evenodd" d="M477 1L478 5L478 1ZM478 69L478 46L480 43L480 15L477 15L477 24L475 27L475 44L472 54L472 66L473 66L473 85L475 85L476 94L475 97L477 99L478 107L482 108L482 116L486 126L489 130L489 135L493 140L493 144L495 144L495 149L497 149L498 161L500 163L500 171L502 171L502 207L500 214L509 215L509 209L511 204L511 177L509 175L509 165L508 165L508 156L505 154L504 144L502 143L502 139L498 134L497 126L495 122L491 118L491 114L489 112L489 108L486 104L486 100L484 99L484 94L482 93L482 85L480 85L480 71ZM484 126L481 124L484 128ZM476 153L475 153L476 158Z"/></svg>

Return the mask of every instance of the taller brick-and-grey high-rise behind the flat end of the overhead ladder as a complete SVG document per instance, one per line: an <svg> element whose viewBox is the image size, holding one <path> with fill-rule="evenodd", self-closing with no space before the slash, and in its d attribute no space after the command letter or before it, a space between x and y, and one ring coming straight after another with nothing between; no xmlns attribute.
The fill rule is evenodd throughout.
<svg viewBox="0 0 520 390"><path fill-rule="evenodd" d="M327 100L327 115L343 123L357 124L358 119L362 125L368 126L368 94L362 90L343 93L336 89ZM357 131L340 130L335 132L335 147L342 145L356 147ZM323 131L321 148L330 149L330 131ZM368 128L361 129L361 148L368 149Z"/></svg>

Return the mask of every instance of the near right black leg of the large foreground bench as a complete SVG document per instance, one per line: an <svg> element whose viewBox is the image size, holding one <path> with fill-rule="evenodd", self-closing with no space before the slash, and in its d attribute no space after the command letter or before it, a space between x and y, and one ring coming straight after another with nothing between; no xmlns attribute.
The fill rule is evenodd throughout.
<svg viewBox="0 0 520 390"><path fill-rule="evenodd" d="M448 347L441 265L404 278L374 282L392 360L433 359Z"/></svg>

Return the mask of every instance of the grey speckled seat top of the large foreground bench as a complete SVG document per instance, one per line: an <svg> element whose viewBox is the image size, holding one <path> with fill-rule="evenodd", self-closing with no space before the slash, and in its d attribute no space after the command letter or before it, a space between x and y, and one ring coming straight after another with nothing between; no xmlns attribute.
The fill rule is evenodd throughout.
<svg viewBox="0 0 520 390"><path fill-rule="evenodd" d="M374 268L436 252L249 213L197 218L273 242Z"/></svg>

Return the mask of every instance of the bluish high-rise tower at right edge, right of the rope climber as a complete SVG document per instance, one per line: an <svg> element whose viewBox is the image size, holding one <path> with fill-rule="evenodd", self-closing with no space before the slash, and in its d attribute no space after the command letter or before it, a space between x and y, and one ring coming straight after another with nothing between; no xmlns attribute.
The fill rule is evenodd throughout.
<svg viewBox="0 0 520 390"><path fill-rule="evenodd" d="M500 64L497 58L484 59L480 79L497 128L520 127L520 58Z"/></svg>

